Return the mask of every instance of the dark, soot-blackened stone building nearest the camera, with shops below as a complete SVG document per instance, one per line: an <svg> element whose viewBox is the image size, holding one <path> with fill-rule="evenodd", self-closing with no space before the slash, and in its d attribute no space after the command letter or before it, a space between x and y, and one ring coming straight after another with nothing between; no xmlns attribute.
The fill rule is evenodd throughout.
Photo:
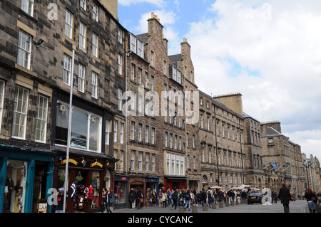
<svg viewBox="0 0 321 227"><path fill-rule="evenodd" d="M46 191L63 186L71 85L68 188L73 182L94 188L93 199L76 209L100 208L104 176L113 187L113 149L124 144L116 91L125 87L118 56L125 56L126 29L110 3L2 1L0 179L19 186L22 202L11 196L17 187L1 186L7 196L0 198L1 209L6 203L8 211L38 212Z"/></svg>

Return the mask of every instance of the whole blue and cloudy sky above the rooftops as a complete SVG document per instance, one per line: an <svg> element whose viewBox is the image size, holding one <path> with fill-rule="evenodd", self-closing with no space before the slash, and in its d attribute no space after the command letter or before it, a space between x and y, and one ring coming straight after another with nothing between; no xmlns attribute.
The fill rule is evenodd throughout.
<svg viewBox="0 0 321 227"><path fill-rule="evenodd" d="M187 38L200 90L241 93L243 112L280 121L307 158L321 158L320 0L118 0L131 33L148 31L151 12L169 55Z"/></svg>

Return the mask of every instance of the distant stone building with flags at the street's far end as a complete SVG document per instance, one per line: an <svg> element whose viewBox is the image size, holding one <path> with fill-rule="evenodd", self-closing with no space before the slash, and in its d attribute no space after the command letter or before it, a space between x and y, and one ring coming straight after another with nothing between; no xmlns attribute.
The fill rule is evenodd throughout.
<svg viewBox="0 0 321 227"><path fill-rule="evenodd" d="M281 123L278 121L263 122L260 127L265 187L279 191L282 183L285 183L291 193L302 195L304 169L300 145L291 142L289 137L282 134Z"/></svg>

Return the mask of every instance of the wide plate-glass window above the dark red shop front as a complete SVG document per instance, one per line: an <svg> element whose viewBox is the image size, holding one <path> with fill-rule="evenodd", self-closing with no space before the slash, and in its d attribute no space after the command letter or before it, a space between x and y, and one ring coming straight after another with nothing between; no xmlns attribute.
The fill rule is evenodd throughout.
<svg viewBox="0 0 321 227"><path fill-rule="evenodd" d="M60 101L59 101L60 102ZM67 145L68 105L60 102L56 111L56 144ZM71 147L100 151L101 117L73 107L71 124Z"/></svg>

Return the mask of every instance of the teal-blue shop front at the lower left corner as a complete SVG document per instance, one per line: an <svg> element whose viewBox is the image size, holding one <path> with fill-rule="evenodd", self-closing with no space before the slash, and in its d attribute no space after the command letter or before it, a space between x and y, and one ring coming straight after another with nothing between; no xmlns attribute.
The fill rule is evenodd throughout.
<svg viewBox="0 0 321 227"><path fill-rule="evenodd" d="M56 152L0 144L0 213L45 213Z"/></svg>

